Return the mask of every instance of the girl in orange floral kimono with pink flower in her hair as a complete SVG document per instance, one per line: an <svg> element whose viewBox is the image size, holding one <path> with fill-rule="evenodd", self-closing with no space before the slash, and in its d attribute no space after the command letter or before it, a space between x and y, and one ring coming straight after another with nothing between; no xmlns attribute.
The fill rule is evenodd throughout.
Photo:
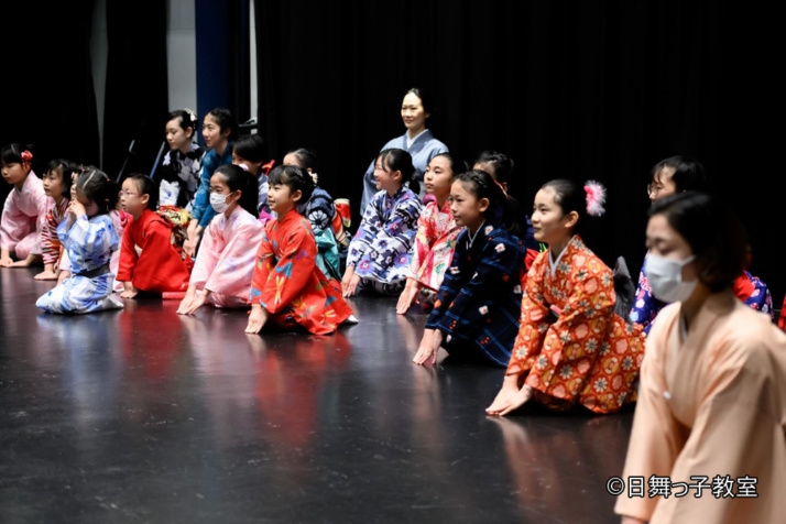
<svg viewBox="0 0 786 524"><path fill-rule="evenodd" d="M571 181L549 182L535 196L535 239L548 251L527 274L518 337L490 415L505 415L533 397L596 413L613 413L633 400L644 358L641 328L614 314L612 272L575 234L585 207L599 216L603 199L600 184L582 188Z"/></svg>

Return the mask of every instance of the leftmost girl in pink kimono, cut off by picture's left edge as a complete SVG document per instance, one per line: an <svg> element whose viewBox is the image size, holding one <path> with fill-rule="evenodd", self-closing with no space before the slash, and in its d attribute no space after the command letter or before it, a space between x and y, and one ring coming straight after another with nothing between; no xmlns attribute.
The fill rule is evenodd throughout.
<svg viewBox="0 0 786 524"><path fill-rule="evenodd" d="M13 186L0 219L0 268L26 268L41 259L41 230L54 205L32 171L33 154L20 144L2 149L2 177ZM17 262L11 259L17 255Z"/></svg>

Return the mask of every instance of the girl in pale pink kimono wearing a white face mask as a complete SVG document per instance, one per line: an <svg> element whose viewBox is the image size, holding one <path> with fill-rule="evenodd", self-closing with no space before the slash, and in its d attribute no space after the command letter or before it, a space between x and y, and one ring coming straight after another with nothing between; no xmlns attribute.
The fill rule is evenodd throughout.
<svg viewBox="0 0 786 524"><path fill-rule="evenodd" d="M264 232L256 219L255 182L237 165L222 165L210 177L210 206L218 215L207 227L178 314L190 315L206 303L249 307L256 249Z"/></svg>

